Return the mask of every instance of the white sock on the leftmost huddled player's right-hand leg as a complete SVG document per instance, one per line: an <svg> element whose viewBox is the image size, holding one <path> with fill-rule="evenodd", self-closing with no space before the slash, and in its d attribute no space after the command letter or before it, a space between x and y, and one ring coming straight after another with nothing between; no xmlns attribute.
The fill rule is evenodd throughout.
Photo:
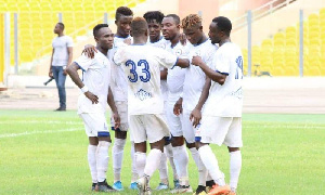
<svg viewBox="0 0 325 195"><path fill-rule="evenodd" d="M108 147L110 143L100 141L96 151L96 167L98 167L98 181L103 182L106 179L106 171L108 166Z"/></svg>

